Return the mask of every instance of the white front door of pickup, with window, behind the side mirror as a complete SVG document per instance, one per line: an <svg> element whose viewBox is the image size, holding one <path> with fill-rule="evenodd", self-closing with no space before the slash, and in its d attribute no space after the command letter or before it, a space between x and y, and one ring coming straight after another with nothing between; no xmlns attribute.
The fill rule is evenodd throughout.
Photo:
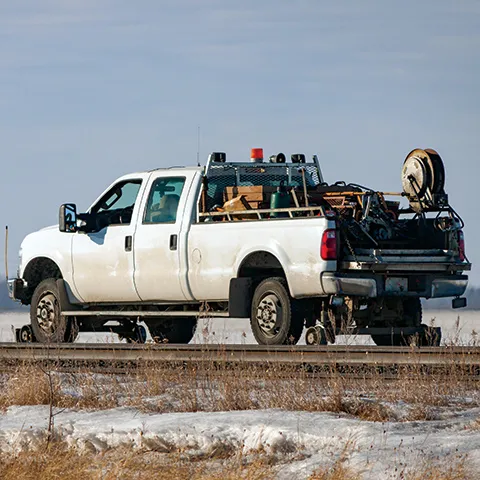
<svg viewBox="0 0 480 480"><path fill-rule="evenodd" d="M122 179L90 209L90 233L72 244L73 281L86 303L136 302L133 237L141 201L142 175Z"/></svg>

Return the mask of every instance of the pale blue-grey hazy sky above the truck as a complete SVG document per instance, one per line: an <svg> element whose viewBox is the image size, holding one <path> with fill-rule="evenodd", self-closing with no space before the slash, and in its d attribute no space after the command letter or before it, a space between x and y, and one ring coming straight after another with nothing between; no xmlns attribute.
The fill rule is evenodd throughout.
<svg viewBox="0 0 480 480"><path fill-rule="evenodd" d="M195 164L200 126L202 162L317 153L327 181L386 191L410 150L436 149L480 285L479 85L479 1L0 2L10 273L61 203Z"/></svg>

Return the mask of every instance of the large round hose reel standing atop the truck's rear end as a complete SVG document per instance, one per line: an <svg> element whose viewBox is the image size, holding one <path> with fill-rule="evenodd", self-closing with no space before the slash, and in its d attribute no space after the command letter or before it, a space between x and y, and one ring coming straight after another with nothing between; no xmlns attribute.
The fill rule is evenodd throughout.
<svg viewBox="0 0 480 480"><path fill-rule="evenodd" d="M416 148L407 155L403 162L402 186L415 212L448 205L445 167L440 155L431 148Z"/></svg>

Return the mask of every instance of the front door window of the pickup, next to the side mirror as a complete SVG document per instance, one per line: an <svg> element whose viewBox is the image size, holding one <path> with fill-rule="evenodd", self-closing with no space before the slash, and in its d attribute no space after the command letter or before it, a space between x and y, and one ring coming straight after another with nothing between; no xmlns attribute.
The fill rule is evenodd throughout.
<svg viewBox="0 0 480 480"><path fill-rule="evenodd" d="M91 209L102 226L129 224L142 180L125 180L114 185Z"/></svg>

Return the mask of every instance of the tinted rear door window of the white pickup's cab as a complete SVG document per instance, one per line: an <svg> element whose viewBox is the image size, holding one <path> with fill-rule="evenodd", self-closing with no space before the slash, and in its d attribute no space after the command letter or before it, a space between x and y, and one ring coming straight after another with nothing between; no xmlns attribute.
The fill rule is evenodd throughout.
<svg viewBox="0 0 480 480"><path fill-rule="evenodd" d="M175 223L185 177L157 178L150 189L143 223Z"/></svg>

